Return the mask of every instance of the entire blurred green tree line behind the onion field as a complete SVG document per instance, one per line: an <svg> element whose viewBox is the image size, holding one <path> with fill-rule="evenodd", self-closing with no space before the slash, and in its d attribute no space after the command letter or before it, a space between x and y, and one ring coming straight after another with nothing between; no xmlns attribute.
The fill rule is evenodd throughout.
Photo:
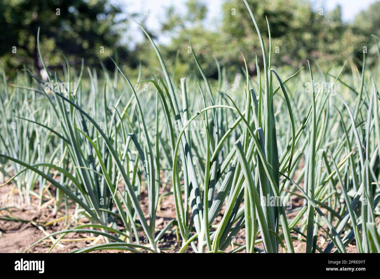
<svg viewBox="0 0 380 279"><path fill-rule="evenodd" d="M367 52L376 55L375 41L370 35L380 37L380 2L372 4L349 23L342 20L340 6L328 12L308 0L248 2L267 47L269 34L265 17L268 17L275 66L299 68L307 59L321 66L339 66L350 58L360 66L364 46ZM185 5L185 14L179 13L174 6L168 7L159 33L152 34L153 37L170 38L169 43L162 44L159 49L178 77L197 73L189 53L189 40L209 77L217 77L215 58L229 72L241 71L242 57L237 48L247 60L250 72L255 73L255 57L257 55L261 61L261 49L243 1L223 0L222 19L215 26L207 25L204 3L188 0ZM146 17L133 16L144 25ZM127 21L121 8L106 0L2 0L2 64L8 68L27 64L39 70L42 65L37 59L36 34L40 27L41 48L51 68L62 65L57 50L67 55L73 65L81 63L83 57L86 65L100 66L102 62L105 67L112 68L108 58L112 55L131 69L136 69L139 62L149 65L150 69L159 68L155 52L146 38L133 49L120 42L129 24L133 23ZM17 54L13 53L14 46Z"/></svg>

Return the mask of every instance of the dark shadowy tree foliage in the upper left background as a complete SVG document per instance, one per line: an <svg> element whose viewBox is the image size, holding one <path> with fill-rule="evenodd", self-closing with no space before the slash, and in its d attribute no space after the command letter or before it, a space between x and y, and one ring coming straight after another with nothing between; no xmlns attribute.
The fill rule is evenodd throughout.
<svg viewBox="0 0 380 279"><path fill-rule="evenodd" d="M60 66L62 51L70 63L97 64L114 55L135 63L125 47L117 46L120 29L116 16L120 8L106 0L2 0L0 1L0 54L3 64L22 64L41 69L36 48L38 27L41 47L49 54L49 68ZM16 48L14 48L16 47ZM104 47L104 52L101 49ZM16 53L15 53L16 52ZM106 59L105 61L109 61Z"/></svg>

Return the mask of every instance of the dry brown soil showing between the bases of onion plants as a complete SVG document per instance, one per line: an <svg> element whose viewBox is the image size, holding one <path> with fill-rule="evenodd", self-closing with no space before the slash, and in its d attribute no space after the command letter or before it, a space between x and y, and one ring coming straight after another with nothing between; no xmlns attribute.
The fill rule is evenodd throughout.
<svg viewBox="0 0 380 279"><path fill-rule="evenodd" d="M161 192L167 191L161 189ZM13 188L11 184L4 185L0 187L0 195L17 195L17 190ZM14 252L23 252L29 246L31 246L35 241L41 239L45 235L48 235L53 232L57 232L62 230L64 227L64 217L65 209L63 208L56 216L52 216L52 203L49 204L49 199L44 199L44 203L47 206L43 206L40 210L38 209L38 199L32 197L30 203L30 209L28 210L20 210L18 208L9 208L8 210L0 211L0 253L14 253ZM51 202L51 201L50 201ZM293 196L293 208L298 206L302 206L302 199ZM148 212L148 198L145 192L141 195L141 206L143 212ZM70 217L74 214L75 205L72 203L68 208L68 216ZM224 212L224 207L222 208L220 214L217 216L215 223L220 222L222 219L222 214ZM298 212L292 212L288 214L288 219L292 219L296 216ZM1 220L2 218L18 218L24 220L21 221L5 221ZM148 216L146 216L148 217ZM173 195L167 195L162 198L161 206L157 212L156 219L156 228L158 231L163 229L169 221L176 217L175 209L174 209L174 198ZM59 219L60 218L60 219ZM59 219L59 220L57 220ZM70 219L70 218L69 218ZM380 218L377 219L377 222L380 221ZM89 221L86 218L80 219L78 221L79 224L86 224ZM121 225L121 224L120 224ZM120 226L121 228L121 226ZM297 236L297 233L292 232L293 236ZM320 238L317 241L317 245L323 249L328 244L328 241L324 241L325 233L322 229L320 229ZM57 236L54 236L55 239ZM141 233L139 235L141 242L143 242L144 235ZM54 240L47 239L37 244L36 246L28 249L29 253L46 253L52 246ZM94 241L97 241L97 244L103 243L103 238L96 238L90 235L86 235L84 233L68 233L63 239L57 244L51 252L54 253L67 253L74 251L79 248L83 248L86 246L94 245ZM239 234L236 236L235 243L244 244L245 243L245 230L242 229ZM178 252L179 246L182 243L177 243L177 236L175 229L168 230L163 239L161 240L159 247L162 252L167 253L175 253ZM293 241L295 252L305 252L306 243L301 241ZM262 244L256 245L256 247L263 249ZM231 251L232 247L229 246L226 251ZM282 252L282 249L279 249ZM94 253L103 252L103 251L95 251ZM117 251L111 250L106 252L125 252L125 251ZM188 246L187 252L193 252L191 246ZM350 243L347 246L347 252L355 253L356 246L355 243Z"/></svg>

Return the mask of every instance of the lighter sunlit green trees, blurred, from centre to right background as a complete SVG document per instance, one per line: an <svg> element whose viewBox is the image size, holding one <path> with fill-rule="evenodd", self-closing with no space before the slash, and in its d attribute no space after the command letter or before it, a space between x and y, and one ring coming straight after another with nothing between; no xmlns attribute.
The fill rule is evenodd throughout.
<svg viewBox="0 0 380 279"><path fill-rule="evenodd" d="M328 12L324 6L312 5L307 0L248 2L258 19L267 47L269 34L265 18L268 17L272 62L276 66L298 68L304 65L307 59L326 67L331 65L331 61L334 61L334 65L339 65L347 59L352 59L360 65L363 58L363 42L368 41L370 34L376 34L379 30L376 14L379 9L375 4L369 8L372 11L362 13L362 17L369 19L371 23L365 23L365 27L355 27L342 20L340 6ZM171 60L171 65L175 65L173 71L184 73L193 68L196 73L192 54L188 53L190 40L207 76L217 76L214 57L229 71L241 71L242 57L236 48L240 49L246 58L250 72L255 73L256 55L259 63L262 59L261 55L258 55L261 53L260 43L244 2L225 0L222 5L221 22L215 26L207 25L204 20L207 14L205 4L198 0L189 0L186 6L185 14L180 14L173 6L169 7L162 20L160 35L169 36L171 43L160 48L165 57ZM360 18L357 20L365 21ZM361 31L363 28L366 28L366 32ZM371 42L374 45L373 41ZM150 57L145 47L140 48L144 50L144 55L138 55L142 60Z"/></svg>

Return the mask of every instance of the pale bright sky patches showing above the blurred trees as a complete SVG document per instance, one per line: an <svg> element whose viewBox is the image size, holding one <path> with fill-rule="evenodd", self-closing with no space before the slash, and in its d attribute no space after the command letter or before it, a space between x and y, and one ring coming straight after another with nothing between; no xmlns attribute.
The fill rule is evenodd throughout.
<svg viewBox="0 0 380 279"><path fill-rule="evenodd" d="M159 22L164 21L163 16L165 10L174 5L178 11L185 13L186 0L113 0L112 2L119 4L128 13L144 13L146 14L147 22L146 26L151 32L159 30ZM220 15L222 13L222 3L224 0L204 0L207 3L208 14L206 17L207 25L211 28L215 28L218 22L220 22ZM336 8L337 5L342 7L342 19L346 22L353 20L360 11L368 8L368 6L376 0L314 0L315 9L319 9L323 5L328 11ZM143 36L141 32L138 32L138 27L132 27L129 30L130 34L133 34L133 41L141 41ZM137 32L136 32L137 31ZM168 43L165 41L165 37L159 38L160 43Z"/></svg>

